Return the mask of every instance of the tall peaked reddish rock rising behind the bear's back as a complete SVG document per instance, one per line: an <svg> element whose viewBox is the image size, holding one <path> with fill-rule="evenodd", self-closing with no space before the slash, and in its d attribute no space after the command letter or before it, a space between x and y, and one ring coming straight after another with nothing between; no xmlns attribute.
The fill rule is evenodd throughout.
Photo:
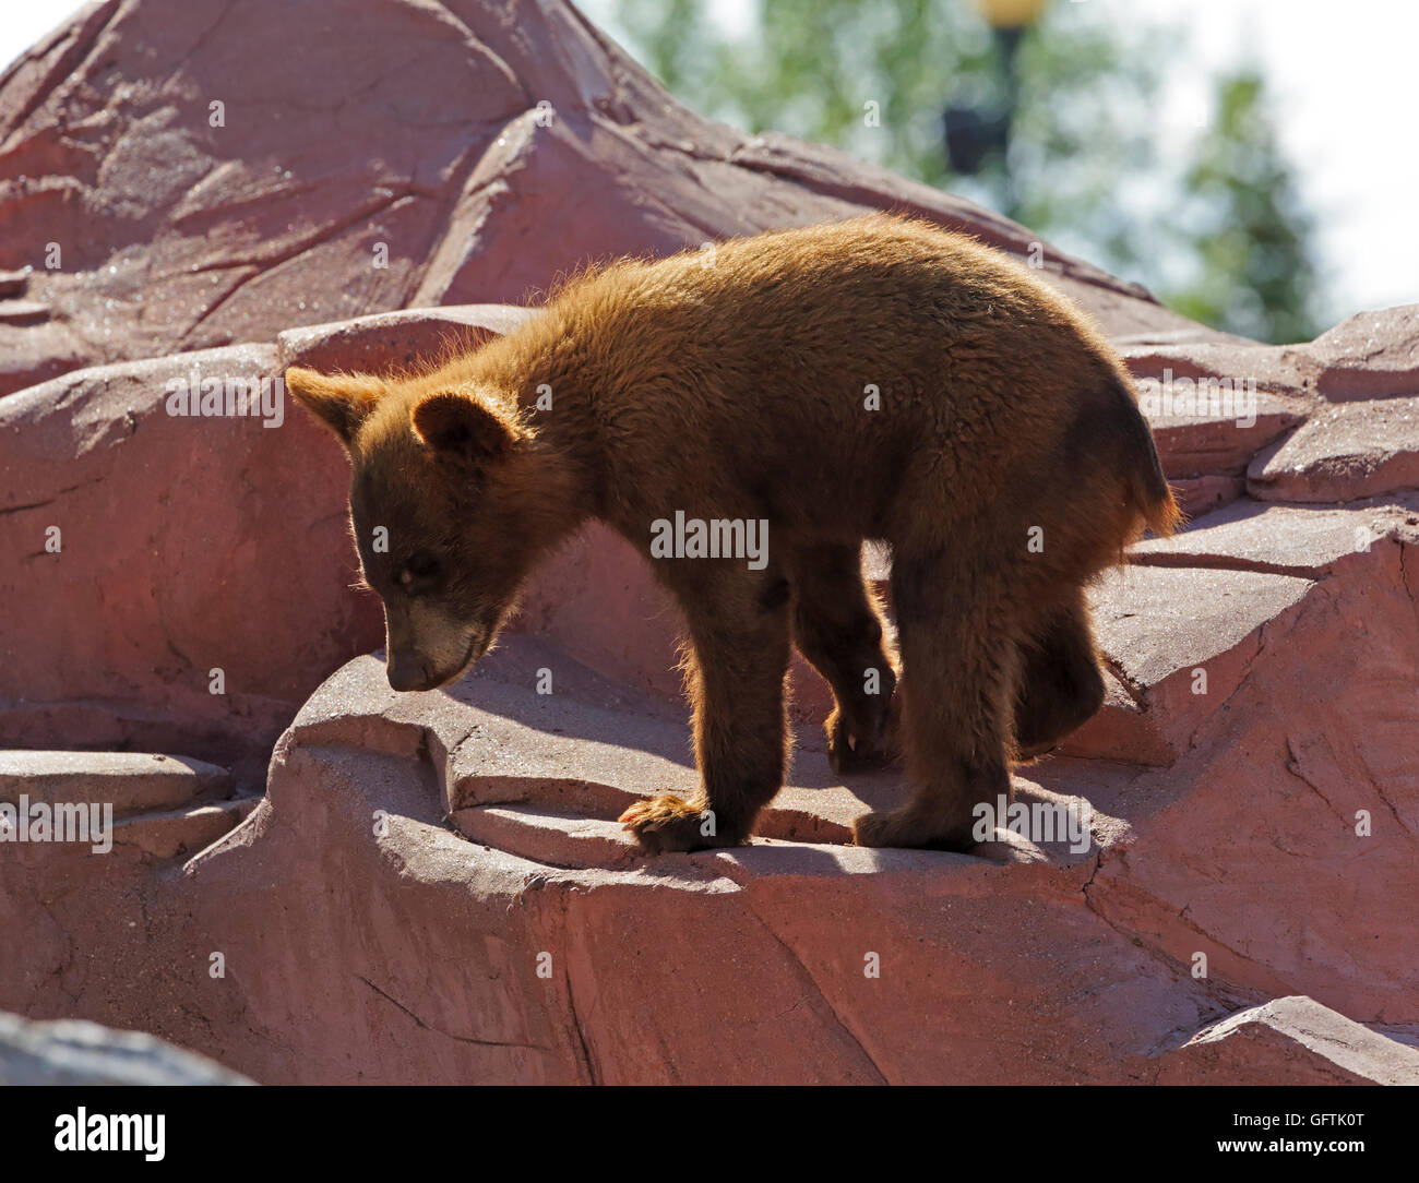
<svg viewBox="0 0 1419 1183"><path fill-rule="evenodd" d="M701 119L569 4L105 0L0 78L0 268L28 267L23 298L47 312L40 331L0 319L0 393L295 325L521 302L586 258L891 204L1020 254L1037 241ZM1215 336L1044 254L1121 332Z"/></svg>

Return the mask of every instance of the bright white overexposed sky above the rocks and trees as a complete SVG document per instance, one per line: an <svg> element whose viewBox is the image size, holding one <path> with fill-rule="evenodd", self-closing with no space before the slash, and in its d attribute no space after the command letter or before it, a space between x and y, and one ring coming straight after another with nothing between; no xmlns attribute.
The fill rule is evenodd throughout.
<svg viewBox="0 0 1419 1183"><path fill-rule="evenodd" d="M954 3L955 0L939 0ZM728 26L748 0L717 0ZM871 0L863 0L871 3ZM1118 24L1191 30L1164 67L1165 126L1205 109L1210 78L1244 57L1263 67L1281 142L1317 214L1320 262L1332 281L1330 319L1419 302L1419 150L1415 99L1419 4L1413 0L1053 0L1104 9ZM84 7L78 0L3 0L0 61ZM603 4L587 7L604 10Z"/></svg>

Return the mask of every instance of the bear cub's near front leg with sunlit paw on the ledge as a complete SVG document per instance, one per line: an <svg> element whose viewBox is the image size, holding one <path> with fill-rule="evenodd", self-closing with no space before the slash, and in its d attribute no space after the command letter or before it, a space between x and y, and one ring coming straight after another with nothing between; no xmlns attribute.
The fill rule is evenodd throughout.
<svg viewBox="0 0 1419 1183"><path fill-rule="evenodd" d="M687 682L701 789L688 801L666 793L622 814L650 854L738 845L782 787L788 763L788 583L722 560L675 567L667 582L694 647Z"/></svg>

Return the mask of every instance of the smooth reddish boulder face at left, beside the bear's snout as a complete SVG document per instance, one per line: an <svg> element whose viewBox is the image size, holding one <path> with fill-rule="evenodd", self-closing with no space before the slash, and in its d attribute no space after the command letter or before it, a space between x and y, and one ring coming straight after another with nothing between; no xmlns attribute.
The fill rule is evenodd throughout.
<svg viewBox="0 0 1419 1183"><path fill-rule="evenodd" d="M190 752L267 743L318 671L377 644L350 597L348 482L284 416L272 346L77 370L0 400L0 740ZM175 416L170 383L260 383L274 417ZM220 671L220 674L214 674Z"/></svg>

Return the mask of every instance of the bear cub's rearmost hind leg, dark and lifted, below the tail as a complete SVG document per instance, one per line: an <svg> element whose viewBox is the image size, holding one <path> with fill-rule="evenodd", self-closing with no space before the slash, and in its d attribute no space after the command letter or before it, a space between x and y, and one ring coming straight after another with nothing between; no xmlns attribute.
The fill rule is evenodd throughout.
<svg viewBox="0 0 1419 1183"><path fill-rule="evenodd" d="M1020 647L1015 695L1019 759L1033 760L1083 726L1104 705L1104 678L1083 592L1043 617Z"/></svg>

